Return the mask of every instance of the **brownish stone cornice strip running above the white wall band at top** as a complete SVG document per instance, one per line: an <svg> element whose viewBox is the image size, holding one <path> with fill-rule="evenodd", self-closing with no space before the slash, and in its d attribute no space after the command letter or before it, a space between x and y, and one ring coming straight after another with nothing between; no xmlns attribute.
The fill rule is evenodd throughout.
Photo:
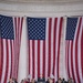
<svg viewBox="0 0 83 83"><path fill-rule="evenodd" d="M79 4L83 3L83 0L0 0L0 3L7 4Z"/></svg>

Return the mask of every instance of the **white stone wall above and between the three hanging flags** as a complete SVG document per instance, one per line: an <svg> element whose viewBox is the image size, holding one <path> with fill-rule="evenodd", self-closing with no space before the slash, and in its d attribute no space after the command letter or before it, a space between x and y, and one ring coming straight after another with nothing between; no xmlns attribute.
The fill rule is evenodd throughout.
<svg viewBox="0 0 83 83"><path fill-rule="evenodd" d="M83 2L68 2L68 3L48 3L48 2L0 2L0 14L4 15L17 15L24 17L23 31L22 31L22 42L20 51L20 65L19 65L19 82L27 77L27 27L25 27L25 17L65 17L64 18L64 29L62 34L62 46L61 46L61 58L60 58L60 73L61 77L66 79L65 69L64 69L64 39L65 39L65 25L66 17L73 15L83 15Z"/></svg>

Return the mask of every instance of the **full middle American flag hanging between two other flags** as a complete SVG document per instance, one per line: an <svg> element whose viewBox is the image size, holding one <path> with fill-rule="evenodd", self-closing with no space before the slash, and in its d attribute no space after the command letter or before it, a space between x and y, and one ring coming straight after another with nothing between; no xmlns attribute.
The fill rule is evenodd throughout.
<svg viewBox="0 0 83 83"><path fill-rule="evenodd" d="M27 18L27 22L31 79L54 75L58 80L63 18Z"/></svg>

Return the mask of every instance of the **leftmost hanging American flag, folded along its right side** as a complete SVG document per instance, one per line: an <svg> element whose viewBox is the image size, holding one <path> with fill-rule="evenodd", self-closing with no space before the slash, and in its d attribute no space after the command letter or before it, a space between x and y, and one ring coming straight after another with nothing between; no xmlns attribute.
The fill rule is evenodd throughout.
<svg viewBox="0 0 83 83"><path fill-rule="evenodd" d="M23 18L0 15L0 83L18 77Z"/></svg>

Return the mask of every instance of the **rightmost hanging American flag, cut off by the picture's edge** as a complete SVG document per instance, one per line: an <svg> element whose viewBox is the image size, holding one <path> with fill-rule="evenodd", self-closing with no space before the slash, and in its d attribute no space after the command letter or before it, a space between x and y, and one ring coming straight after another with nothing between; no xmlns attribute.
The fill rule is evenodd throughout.
<svg viewBox="0 0 83 83"><path fill-rule="evenodd" d="M68 18L65 63L68 77L83 83L83 18Z"/></svg>

